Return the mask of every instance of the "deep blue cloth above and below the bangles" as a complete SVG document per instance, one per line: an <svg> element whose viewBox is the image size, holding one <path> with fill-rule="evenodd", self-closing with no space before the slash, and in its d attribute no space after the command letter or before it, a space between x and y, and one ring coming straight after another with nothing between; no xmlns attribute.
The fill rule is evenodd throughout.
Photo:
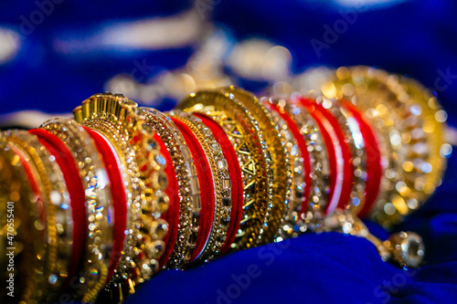
<svg viewBox="0 0 457 304"><path fill-rule="evenodd" d="M340 1L343 2L343 1ZM345 1L348 3L349 1ZM291 50L293 72L328 65L371 65L409 74L434 90L456 125L457 2L375 1L317 54L325 25L345 20L337 1L198 0L215 24L235 39L264 37ZM163 68L185 65L197 46L143 50L101 49L80 56L52 50L53 37L90 36L100 23L136 17L173 16L191 1L63 2L27 35L9 62L0 65L0 113L64 112L101 91L103 83L129 72L135 58ZM0 2L0 27L18 29L20 16L37 4ZM228 71L229 72L229 71ZM447 76L446 76L447 74ZM444 75L444 76L443 76ZM232 75L237 78L237 75ZM246 89L267 83L238 79ZM164 103L165 108L170 104ZM430 202L397 227L424 237L426 264L404 270L384 263L371 243L354 236L309 234L219 258L186 271L163 271L138 288L127 303L455 303L457 302L457 156ZM373 223L371 231L387 233Z"/></svg>

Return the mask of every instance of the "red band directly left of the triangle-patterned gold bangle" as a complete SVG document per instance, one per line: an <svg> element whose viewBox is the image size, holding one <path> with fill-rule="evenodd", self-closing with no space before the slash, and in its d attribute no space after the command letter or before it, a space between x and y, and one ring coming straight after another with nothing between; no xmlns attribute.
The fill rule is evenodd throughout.
<svg viewBox="0 0 457 304"><path fill-rule="evenodd" d="M218 125L218 122L213 121L207 115L194 113L199 119L205 123L205 125L211 130L216 141L220 144L224 157L228 163L228 175L230 176L231 183L231 201L232 208L230 213L230 222L228 223L227 240L220 249L220 254L223 255L230 249L230 246L235 241L237 236L239 225L241 222L241 216L243 215L243 204L244 204L244 189L243 179L241 175L241 167L237 157L237 152L233 148L230 140L224 129Z"/></svg>

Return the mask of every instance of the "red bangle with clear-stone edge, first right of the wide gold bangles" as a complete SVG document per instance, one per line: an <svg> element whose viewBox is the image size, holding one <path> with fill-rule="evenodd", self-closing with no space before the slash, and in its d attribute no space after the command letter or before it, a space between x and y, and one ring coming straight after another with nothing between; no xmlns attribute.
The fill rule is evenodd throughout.
<svg viewBox="0 0 457 304"><path fill-rule="evenodd" d="M292 195L291 202L283 215L280 229L281 237L298 236L301 232L303 213L308 208L311 193L311 161L303 135L297 124L284 109L287 101L280 98L262 98L262 103L271 110L271 115L276 115L278 127L284 133L287 147L291 151L292 159Z"/></svg>

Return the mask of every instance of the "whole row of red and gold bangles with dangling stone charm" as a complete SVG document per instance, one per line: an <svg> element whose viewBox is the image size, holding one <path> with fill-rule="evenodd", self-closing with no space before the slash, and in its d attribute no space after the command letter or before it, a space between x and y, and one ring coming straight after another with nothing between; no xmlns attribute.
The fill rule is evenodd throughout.
<svg viewBox="0 0 457 304"><path fill-rule="evenodd" d="M1 133L17 302L118 303L161 269L307 232L366 237L383 260L420 266L420 236L383 241L362 220L389 229L441 184L452 146L430 90L353 67L265 95L203 89L162 113L97 94L74 119Z"/></svg>

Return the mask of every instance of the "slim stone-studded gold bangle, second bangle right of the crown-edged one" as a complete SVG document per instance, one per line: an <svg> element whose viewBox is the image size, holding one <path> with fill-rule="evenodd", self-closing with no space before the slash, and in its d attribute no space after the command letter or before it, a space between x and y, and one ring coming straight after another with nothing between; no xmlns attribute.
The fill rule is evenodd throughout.
<svg viewBox="0 0 457 304"><path fill-rule="evenodd" d="M165 143L175 167L180 199L179 232L165 268L181 269L190 262L197 241L201 202L196 165L186 140L170 118L149 108L139 108L139 114Z"/></svg>

